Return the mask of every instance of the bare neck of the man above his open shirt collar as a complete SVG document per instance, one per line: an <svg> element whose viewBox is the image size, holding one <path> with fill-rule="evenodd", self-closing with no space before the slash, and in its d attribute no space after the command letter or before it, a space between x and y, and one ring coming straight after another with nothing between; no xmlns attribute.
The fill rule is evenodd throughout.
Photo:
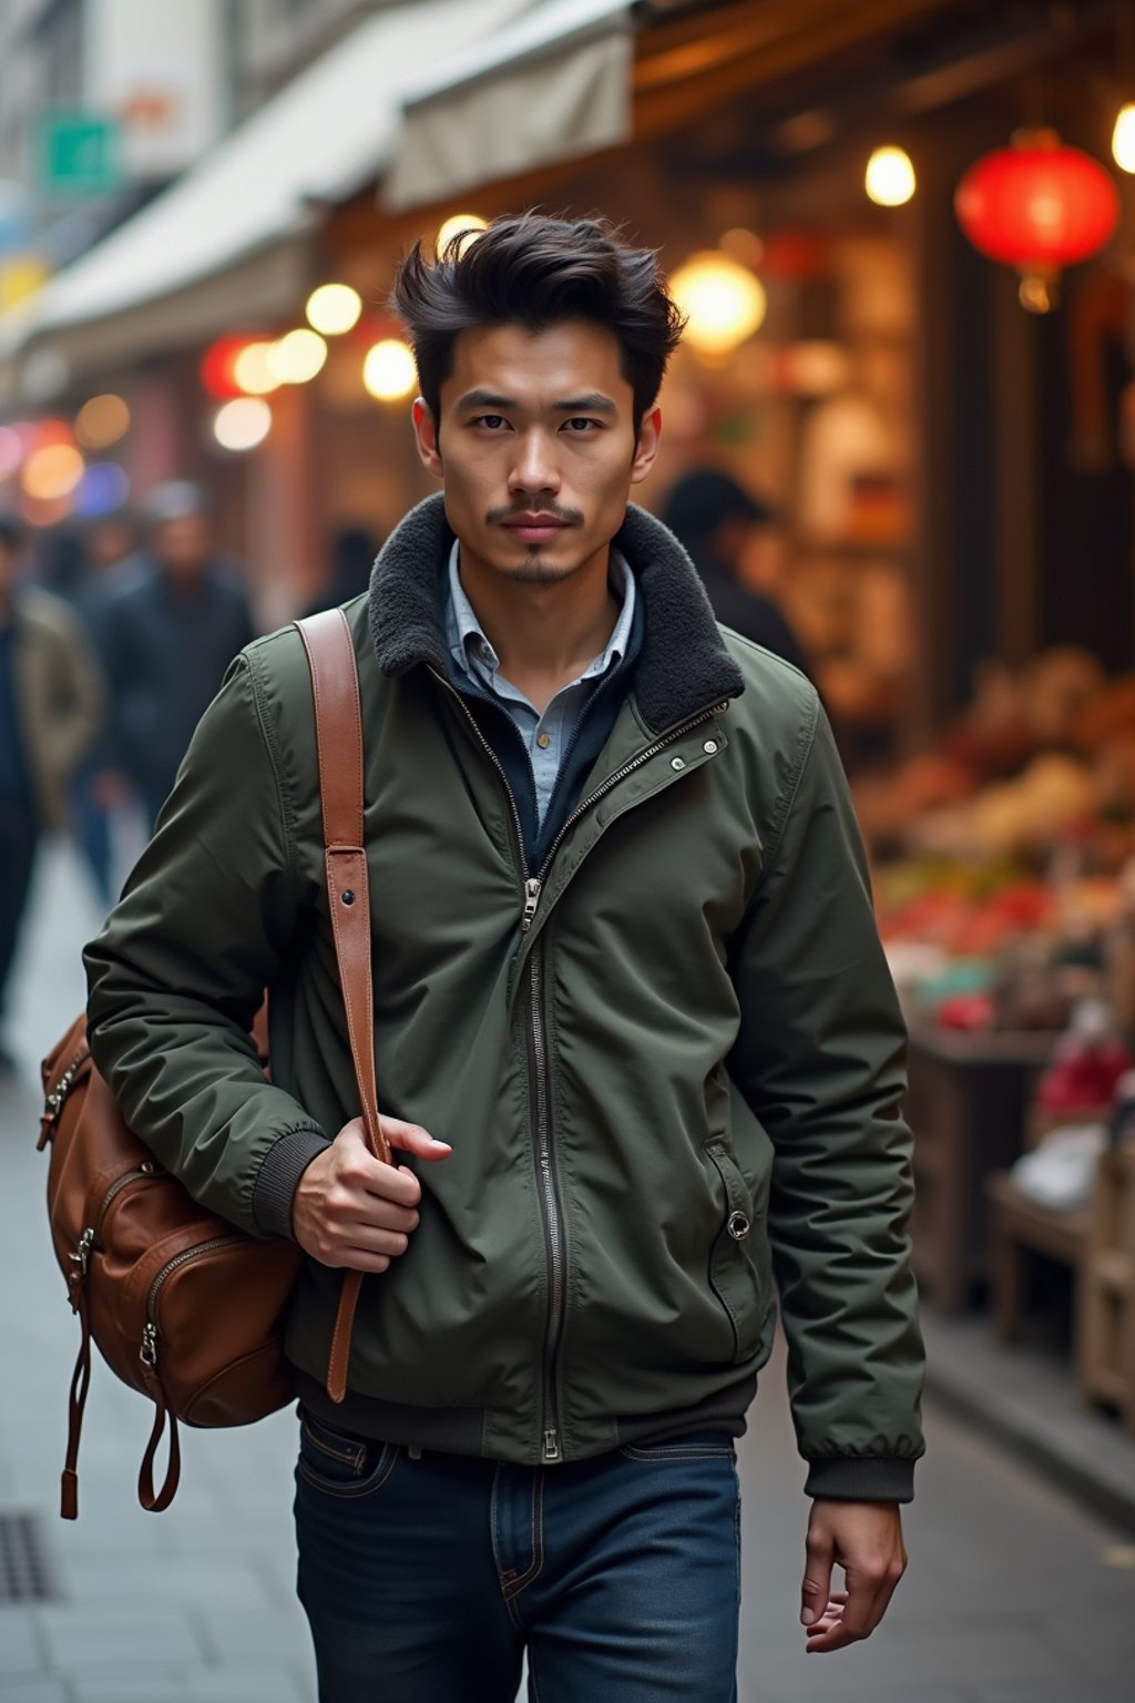
<svg viewBox="0 0 1135 1703"><path fill-rule="evenodd" d="M526 584L507 579L461 550L461 586L500 673L543 714L562 686L601 656L619 618L611 594L611 547L565 579Z"/></svg>

